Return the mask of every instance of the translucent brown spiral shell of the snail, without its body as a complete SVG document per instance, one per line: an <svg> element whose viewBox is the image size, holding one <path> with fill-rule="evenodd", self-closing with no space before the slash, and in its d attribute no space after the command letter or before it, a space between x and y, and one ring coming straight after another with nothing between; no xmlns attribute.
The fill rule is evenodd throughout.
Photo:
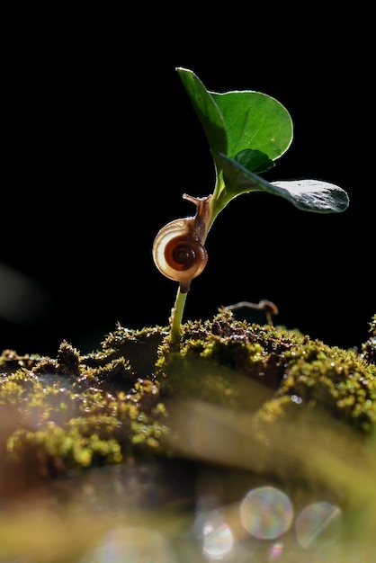
<svg viewBox="0 0 376 563"><path fill-rule="evenodd" d="M166 278L186 283L197 277L208 262L205 247L195 229L195 218L175 219L157 233L153 259Z"/></svg>

